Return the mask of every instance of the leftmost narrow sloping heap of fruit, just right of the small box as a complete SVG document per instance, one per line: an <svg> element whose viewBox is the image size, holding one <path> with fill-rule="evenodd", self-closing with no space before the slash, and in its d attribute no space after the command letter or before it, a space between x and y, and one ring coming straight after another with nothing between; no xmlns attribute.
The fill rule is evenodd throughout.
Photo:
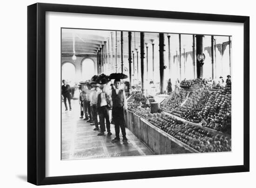
<svg viewBox="0 0 256 188"><path fill-rule="evenodd" d="M172 94L167 100L167 102L161 107L161 109L165 112L172 113L172 111L180 106L182 102L186 99L187 95L189 94L186 90L181 90L180 93Z"/></svg>

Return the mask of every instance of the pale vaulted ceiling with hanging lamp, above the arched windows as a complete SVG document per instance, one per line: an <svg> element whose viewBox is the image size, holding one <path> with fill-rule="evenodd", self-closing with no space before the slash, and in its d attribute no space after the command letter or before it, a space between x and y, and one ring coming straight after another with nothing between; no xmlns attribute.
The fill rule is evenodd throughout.
<svg viewBox="0 0 256 188"><path fill-rule="evenodd" d="M62 29L61 53L62 56L96 54L104 41L115 49L115 31L88 30L88 29ZM135 36L135 37L134 37ZM145 43L158 41L157 33L145 33ZM121 32L117 32L117 46L121 46ZM140 47L140 33L132 32L132 48ZM109 46L109 48L111 48ZM132 50L133 50L132 49ZM128 32L123 32L123 53L128 54Z"/></svg>

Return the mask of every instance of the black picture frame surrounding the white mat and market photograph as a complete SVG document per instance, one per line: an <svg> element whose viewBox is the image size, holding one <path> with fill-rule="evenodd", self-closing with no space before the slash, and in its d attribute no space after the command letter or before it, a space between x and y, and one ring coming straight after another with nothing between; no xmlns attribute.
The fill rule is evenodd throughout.
<svg viewBox="0 0 256 188"><path fill-rule="evenodd" d="M243 165L46 177L46 12L243 23ZM39 100L40 99L40 100ZM249 171L249 16L36 3L27 7L27 181L35 185Z"/></svg>

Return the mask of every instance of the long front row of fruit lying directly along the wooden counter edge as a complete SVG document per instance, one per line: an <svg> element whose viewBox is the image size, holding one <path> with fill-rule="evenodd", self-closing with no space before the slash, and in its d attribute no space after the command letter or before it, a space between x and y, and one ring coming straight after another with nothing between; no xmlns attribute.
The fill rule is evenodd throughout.
<svg viewBox="0 0 256 188"><path fill-rule="evenodd" d="M202 128L185 124L165 114L149 114L147 120L199 152L231 151L231 138L212 134Z"/></svg>

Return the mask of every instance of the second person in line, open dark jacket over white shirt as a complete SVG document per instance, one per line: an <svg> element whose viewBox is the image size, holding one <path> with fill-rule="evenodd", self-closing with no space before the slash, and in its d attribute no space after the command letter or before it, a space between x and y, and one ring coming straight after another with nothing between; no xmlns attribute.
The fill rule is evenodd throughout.
<svg viewBox="0 0 256 188"><path fill-rule="evenodd" d="M100 86L101 93L98 95L98 102L97 102L97 109L100 116L100 127L101 127L101 133L99 133L98 136L104 135L104 132L106 131L105 119L106 119L108 135L112 134L110 132L110 121L109 121L109 109L112 108L112 102L111 102L111 97L109 97L108 94L102 91L104 86L106 86L106 84L102 84Z"/></svg>

